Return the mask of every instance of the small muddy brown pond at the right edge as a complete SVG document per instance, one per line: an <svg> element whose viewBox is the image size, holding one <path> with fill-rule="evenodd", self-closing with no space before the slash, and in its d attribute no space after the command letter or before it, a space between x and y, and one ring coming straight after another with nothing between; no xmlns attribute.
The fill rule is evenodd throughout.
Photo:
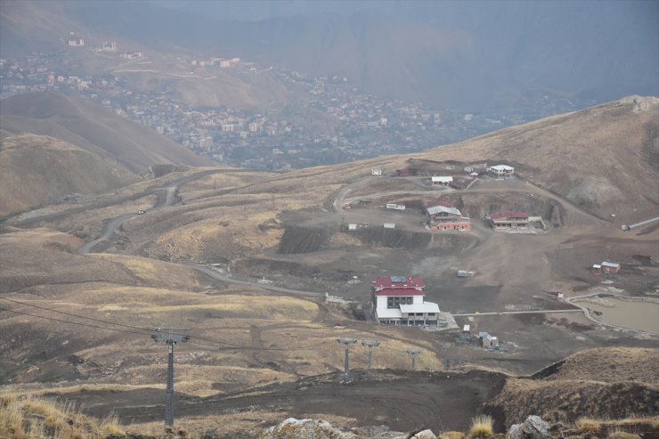
<svg viewBox="0 0 659 439"><path fill-rule="evenodd" d="M595 317L605 323L644 330L659 336L659 303L657 302L596 296L575 300L574 303L595 312Z"/></svg>

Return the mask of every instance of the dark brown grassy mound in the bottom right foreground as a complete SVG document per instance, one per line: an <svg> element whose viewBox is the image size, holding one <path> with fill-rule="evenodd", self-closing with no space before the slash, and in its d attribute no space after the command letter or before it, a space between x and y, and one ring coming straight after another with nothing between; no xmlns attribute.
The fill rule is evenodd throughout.
<svg viewBox="0 0 659 439"><path fill-rule="evenodd" d="M529 415L573 422L588 416L622 419L659 412L656 349L603 348L569 356L546 378L510 378L489 409L506 425ZM548 368L552 369L552 368Z"/></svg>

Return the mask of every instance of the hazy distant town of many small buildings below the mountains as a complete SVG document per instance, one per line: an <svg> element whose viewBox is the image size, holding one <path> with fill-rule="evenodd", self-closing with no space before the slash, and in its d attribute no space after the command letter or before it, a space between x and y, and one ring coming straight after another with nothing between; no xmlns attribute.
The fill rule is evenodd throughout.
<svg viewBox="0 0 659 439"><path fill-rule="evenodd" d="M53 91L85 97L107 110L179 142L200 155L235 167L284 170L368 159L383 154L425 150L458 142L505 126L517 125L584 102L558 96L529 96L533 107L502 114L430 109L419 102L401 102L362 93L347 77L313 77L240 58L177 58L192 69L224 70L244 75L272 74L290 90L301 90L298 110L240 110L192 107L177 101L170 85L140 91L117 72L85 74L68 61L72 55L102 56L117 65L149 63L149 53L122 49L117 42L93 46L75 34L60 51L26 53L0 59L0 97ZM296 111L313 111L305 118ZM316 124L314 120L325 123Z"/></svg>

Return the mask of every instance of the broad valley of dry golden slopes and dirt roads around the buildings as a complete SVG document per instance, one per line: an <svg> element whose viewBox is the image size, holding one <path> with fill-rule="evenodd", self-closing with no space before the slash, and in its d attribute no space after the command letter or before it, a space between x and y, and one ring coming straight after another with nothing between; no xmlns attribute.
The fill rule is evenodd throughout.
<svg viewBox="0 0 659 439"><path fill-rule="evenodd" d="M597 207L548 191L537 170L533 182L484 173L467 190L435 186L432 175L460 178L473 163L439 159L443 150L432 161L391 156L285 173L175 170L115 198L7 217L0 325L14 354L3 365L5 388L155 427L167 368L149 337L179 327L190 328L191 340L176 346L177 422L197 431L239 437L232 428L240 428L252 437L285 416L403 431L432 418L439 420L429 427L464 429L507 377L584 349L655 347L656 334L610 329L569 303L589 292L655 301L654 227L623 232L618 223L630 217L605 219ZM371 175L374 168L384 175ZM404 168L414 175L395 171ZM423 206L436 199L469 215L471 231L429 230ZM492 230L485 215L506 208L541 216L545 229ZM622 272L594 274L590 265L601 260L621 261ZM458 270L474 274L460 278ZM372 321L370 279L395 274L423 279L427 299L453 314L455 329ZM474 335L460 342L464 325L498 337L503 349L475 346ZM377 371L365 369L366 351L354 346L354 379L341 386L337 337L377 339ZM411 347L418 372L405 354ZM485 373L478 370L494 375L475 378ZM432 402L454 394L445 379L492 390L476 399L467 392L449 408ZM348 412L353 388L368 396ZM419 403L434 408L417 419ZM496 419L500 428L517 420Z"/></svg>

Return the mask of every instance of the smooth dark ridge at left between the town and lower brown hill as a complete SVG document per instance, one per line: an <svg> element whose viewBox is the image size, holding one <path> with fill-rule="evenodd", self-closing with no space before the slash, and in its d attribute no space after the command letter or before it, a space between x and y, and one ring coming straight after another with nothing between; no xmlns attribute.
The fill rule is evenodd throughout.
<svg viewBox="0 0 659 439"><path fill-rule="evenodd" d="M94 103L59 93L27 93L0 101L0 133L56 137L116 160L134 173L158 163L210 164L150 128Z"/></svg>

